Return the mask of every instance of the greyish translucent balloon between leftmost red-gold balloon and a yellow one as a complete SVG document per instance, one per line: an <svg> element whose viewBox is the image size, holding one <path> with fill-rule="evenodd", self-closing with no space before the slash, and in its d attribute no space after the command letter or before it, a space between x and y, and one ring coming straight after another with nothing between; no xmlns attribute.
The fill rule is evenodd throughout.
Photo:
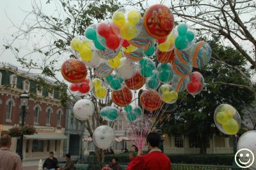
<svg viewBox="0 0 256 170"><path fill-rule="evenodd" d="M94 68L94 73L97 77L108 77L113 72L113 68L109 66L108 61L102 60L100 65Z"/></svg>

